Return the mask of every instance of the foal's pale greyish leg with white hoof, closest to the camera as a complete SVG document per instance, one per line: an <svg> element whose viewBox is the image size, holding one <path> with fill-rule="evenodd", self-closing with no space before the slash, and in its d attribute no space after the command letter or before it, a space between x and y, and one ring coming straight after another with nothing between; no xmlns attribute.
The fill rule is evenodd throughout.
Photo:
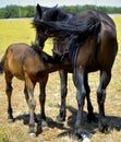
<svg viewBox="0 0 121 142"><path fill-rule="evenodd" d="M34 87L35 83L32 82L29 76L25 74L25 82L26 82L26 87L28 92L28 107L29 107L29 135L35 137L35 119L34 119L34 114L35 114L35 107L36 107L36 102L34 99Z"/></svg>

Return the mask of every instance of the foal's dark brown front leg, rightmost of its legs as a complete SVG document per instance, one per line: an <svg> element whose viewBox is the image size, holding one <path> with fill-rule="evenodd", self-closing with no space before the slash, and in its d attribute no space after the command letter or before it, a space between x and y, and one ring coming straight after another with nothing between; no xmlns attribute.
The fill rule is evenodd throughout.
<svg viewBox="0 0 121 142"><path fill-rule="evenodd" d="M46 114L45 114L45 103L46 103L46 85L48 81L48 74L45 76L44 81L39 83L39 104L40 104L40 110L41 110L41 127L47 128L48 125L46 122Z"/></svg>

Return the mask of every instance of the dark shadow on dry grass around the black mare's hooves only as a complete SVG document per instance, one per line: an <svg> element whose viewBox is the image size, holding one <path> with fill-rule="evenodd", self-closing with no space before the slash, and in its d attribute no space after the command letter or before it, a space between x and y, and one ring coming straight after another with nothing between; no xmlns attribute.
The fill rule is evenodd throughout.
<svg viewBox="0 0 121 142"><path fill-rule="evenodd" d="M68 125L69 125L69 129L62 133L60 133L58 137L65 137L69 135L71 138L75 138L74 133L74 123L76 120L76 113L77 110L71 106L68 106L66 109L69 111L71 111L71 116L68 118ZM98 114L95 114L95 116L98 118ZM84 130L86 133L88 133L89 135L93 135L94 133L96 133L98 131L98 122L89 122L87 120L87 113L83 113L83 117L84 117ZM117 130L117 131L121 131L121 118L120 117L114 117L114 116L106 116L107 118L107 122L109 122L109 128L110 131L112 130Z"/></svg>

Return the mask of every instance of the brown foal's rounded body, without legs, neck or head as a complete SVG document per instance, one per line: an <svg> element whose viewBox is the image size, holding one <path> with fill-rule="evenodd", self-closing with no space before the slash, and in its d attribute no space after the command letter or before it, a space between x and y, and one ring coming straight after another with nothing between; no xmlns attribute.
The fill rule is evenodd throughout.
<svg viewBox="0 0 121 142"><path fill-rule="evenodd" d="M44 70L39 55L26 44L13 44L8 47L4 57L4 72L25 80L25 73L31 76Z"/></svg>

